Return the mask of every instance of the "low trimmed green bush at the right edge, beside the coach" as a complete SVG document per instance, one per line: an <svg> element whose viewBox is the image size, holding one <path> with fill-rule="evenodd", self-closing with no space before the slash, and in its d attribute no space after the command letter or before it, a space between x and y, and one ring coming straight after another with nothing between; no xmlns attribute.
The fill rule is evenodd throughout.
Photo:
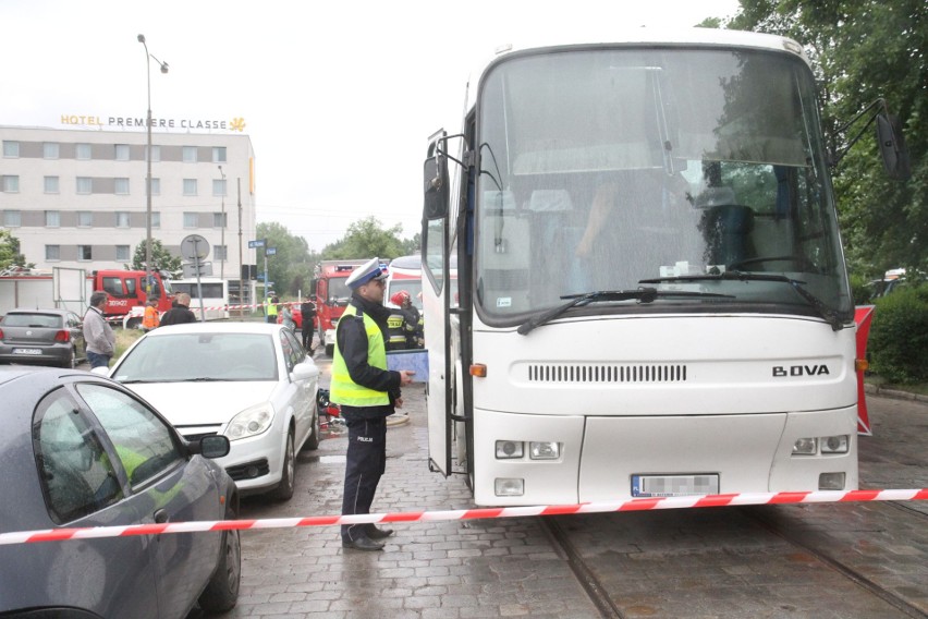
<svg viewBox="0 0 928 619"><path fill-rule="evenodd" d="M901 385L928 380L928 284L876 302L867 350L872 371Z"/></svg>

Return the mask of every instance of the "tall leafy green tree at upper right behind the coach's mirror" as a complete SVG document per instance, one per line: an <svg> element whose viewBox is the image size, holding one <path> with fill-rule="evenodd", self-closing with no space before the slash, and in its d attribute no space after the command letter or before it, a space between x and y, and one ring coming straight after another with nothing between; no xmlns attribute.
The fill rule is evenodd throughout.
<svg viewBox="0 0 928 619"><path fill-rule="evenodd" d="M852 270L928 271L928 4L924 0L740 0L728 27L794 38L806 46L820 84L826 141L834 150L863 128L847 120L886 98L903 126L912 178L890 180L872 132L834 171Z"/></svg>

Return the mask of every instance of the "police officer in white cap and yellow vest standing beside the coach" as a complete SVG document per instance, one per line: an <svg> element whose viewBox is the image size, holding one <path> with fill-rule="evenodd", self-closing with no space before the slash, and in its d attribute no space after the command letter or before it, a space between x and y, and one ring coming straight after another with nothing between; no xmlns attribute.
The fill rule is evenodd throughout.
<svg viewBox="0 0 928 619"><path fill-rule="evenodd" d="M374 258L345 280L352 291L335 330L329 398L341 404L349 429L342 514L370 513L377 484L387 465L387 417L402 408L400 391L414 372L387 369L387 318L383 306L387 275ZM390 529L370 524L341 527L342 547L380 550Z"/></svg>

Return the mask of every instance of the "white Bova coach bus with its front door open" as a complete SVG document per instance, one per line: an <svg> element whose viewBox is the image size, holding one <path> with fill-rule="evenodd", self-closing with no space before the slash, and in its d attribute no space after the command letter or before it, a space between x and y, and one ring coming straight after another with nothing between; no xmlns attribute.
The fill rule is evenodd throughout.
<svg viewBox="0 0 928 619"><path fill-rule="evenodd" d="M802 47L640 28L472 77L424 169L430 468L484 506L856 488L854 304Z"/></svg>

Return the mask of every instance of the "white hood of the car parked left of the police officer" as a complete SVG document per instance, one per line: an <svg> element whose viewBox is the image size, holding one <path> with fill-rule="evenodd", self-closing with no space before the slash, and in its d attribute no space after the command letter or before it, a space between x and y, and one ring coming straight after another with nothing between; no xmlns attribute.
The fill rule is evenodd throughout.
<svg viewBox="0 0 928 619"><path fill-rule="evenodd" d="M224 424L272 399L277 381L137 383L126 385L172 425Z"/></svg>

